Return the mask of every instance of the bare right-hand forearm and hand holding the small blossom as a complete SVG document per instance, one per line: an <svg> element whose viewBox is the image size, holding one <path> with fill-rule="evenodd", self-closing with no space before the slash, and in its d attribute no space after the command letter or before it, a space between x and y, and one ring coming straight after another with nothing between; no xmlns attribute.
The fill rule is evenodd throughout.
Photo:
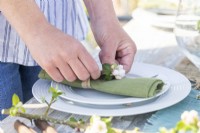
<svg viewBox="0 0 200 133"><path fill-rule="evenodd" d="M90 15L92 31L101 48L102 63L123 65L126 72L132 66L135 43L120 26L112 0L84 0Z"/></svg>

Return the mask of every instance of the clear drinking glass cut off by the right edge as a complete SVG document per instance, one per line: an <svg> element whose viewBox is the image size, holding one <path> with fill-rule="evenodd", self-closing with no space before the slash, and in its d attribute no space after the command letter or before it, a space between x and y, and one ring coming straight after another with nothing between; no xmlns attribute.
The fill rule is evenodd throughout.
<svg viewBox="0 0 200 133"><path fill-rule="evenodd" d="M200 69L200 0L180 0L174 33L178 46Z"/></svg>

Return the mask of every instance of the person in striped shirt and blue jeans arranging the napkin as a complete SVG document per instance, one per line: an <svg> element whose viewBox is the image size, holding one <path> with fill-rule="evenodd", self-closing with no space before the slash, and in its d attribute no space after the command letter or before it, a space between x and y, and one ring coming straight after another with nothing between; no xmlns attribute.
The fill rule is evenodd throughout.
<svg viewBox="0 0 200 133"><path fill-rule="evenodd" d="M112 0L84 3L101 48L101 63L117 61L128 72L136 46L120 27ZM98 65L79 42L88 29L80 0L1 0L0 10L0 109L11 106L13 93L23 101L31 98L40 67L57 82L100 76Z"/></svg>

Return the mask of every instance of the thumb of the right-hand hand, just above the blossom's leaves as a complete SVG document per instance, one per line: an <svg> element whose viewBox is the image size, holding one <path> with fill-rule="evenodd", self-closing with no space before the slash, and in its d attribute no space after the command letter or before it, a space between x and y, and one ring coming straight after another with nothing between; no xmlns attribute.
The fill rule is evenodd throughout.
<svg viewBox="0 0 200 133"><path fill-rule="evenodd" d="M116 63L115 56L116 56L116 50L111 49L111 48L102 48L99 53L99 58L102 64Z"/></svg>

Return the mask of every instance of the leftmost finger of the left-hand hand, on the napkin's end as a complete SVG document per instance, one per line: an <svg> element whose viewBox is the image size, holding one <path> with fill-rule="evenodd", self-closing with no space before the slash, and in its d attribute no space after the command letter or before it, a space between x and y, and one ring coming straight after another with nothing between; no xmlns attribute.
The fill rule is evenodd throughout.
<svg viewBox="0 0 200 133"><path fill-rule="evenodd" d="M64 77L58 70L58 68L55 65L47 65L43 67L43 69L49 74L49 76L56 82L62 82L64 80Z"/></svg>

